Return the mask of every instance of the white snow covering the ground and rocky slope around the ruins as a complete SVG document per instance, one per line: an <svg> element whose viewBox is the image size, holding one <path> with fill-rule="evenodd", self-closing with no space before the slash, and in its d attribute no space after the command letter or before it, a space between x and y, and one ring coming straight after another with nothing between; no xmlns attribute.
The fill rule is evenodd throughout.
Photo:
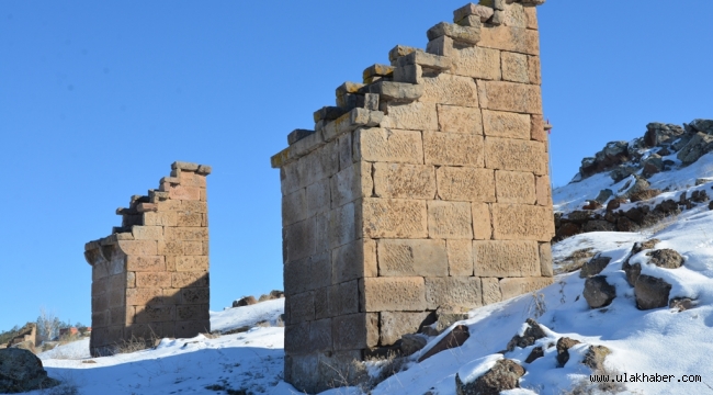
<svg viewBox="0 0 713 395"><path fill-rule="evenodd" d="M657 198L672 199L684 190L699 187L698 178L710 178L713 156L703 157L688 168L650 178L652 188L669 188ZM575 210L599 190L612 187L607 176L595 176L555 191L561 210ZM691 309L657 308L640 311L633 289L621 270L622 261L635 241L658 238L660 248L677 250L684 258L679 269L663 269L646 263L642 273L666 280L672 285L670 297L686 296L695 301ZM372 391L384 394L455 394L455 374L475 377L498 359L508 341L523 330L527 318L535 318L547 328L547 337L525 349L517 348L503 357L520 363L527 371L520 380L522 388L505 394L567 394L589 380L592 372L581 363L590 345L608 347L606 368L613 374L674 375L668 383L624 383L624 394L713 394L713 211L701 204L669 219L665 226L641 233L588 233L553 246L555 261L574 251L590 248L611 257L602 272L616 287L616 298L604 308L590 309L581 296L585 280L578 272L561 274L553 285L536 294L522 295L471 312L471 338L460 348L435 354L421 363L420 352L411 356L407 369L382 382ZM87 340L59 347L41 354L50 376L75 385L80 394L226 394L227 390L246 390L253 394L298 394L282 381L284 330L278 317L284 300L253 306L212 312L214 329L234 328L269 321L272 327L253 327L247 332L208 339L163 339L156 349L107 358L90 358ZM581 341L570 349L564 368L556 368L556 350L547 348L559 337ZM438 341L431 338L430 345ZM427 346L421 352L425 352ZM524 360L533 347L543 346L544 357L532 363ZM374 369L372 368L372 371ZM693 377L700 382L684 382ZM220 390L223 388L223 390ZM620 388L621 390L621 388ZM35 392L39 394L41 392ZM326 394L359 394L359 390L336 388ZM584 394L597 392L589 387Z"/></svg>

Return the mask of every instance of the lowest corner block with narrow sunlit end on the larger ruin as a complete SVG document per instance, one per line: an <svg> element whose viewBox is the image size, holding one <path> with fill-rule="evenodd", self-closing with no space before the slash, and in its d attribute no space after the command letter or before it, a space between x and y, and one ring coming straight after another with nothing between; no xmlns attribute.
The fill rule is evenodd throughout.
<svg viewBox="0 0 713 395"><path fill-rule="evenodd" d="M335 317L333 350L361 350L378 343L378 314L359 313Z"/></svg>

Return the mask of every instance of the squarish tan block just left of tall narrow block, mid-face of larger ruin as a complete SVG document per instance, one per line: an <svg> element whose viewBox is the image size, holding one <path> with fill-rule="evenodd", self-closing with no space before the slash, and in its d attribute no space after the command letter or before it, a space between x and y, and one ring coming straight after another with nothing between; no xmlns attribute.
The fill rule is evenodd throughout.
<svg viewBox="0 0 713 395"><path fill-rule="evenodd" d="M430 238L473 239L473 216L466 202L428 202Z"/></svg>

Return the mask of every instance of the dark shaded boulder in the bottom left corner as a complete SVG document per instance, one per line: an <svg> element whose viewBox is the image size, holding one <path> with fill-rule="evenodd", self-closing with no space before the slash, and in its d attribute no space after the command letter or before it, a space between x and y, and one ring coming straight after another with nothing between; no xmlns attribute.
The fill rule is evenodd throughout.
<svg viewBox="0 0 713 395"><path fill-rule="evenodd" d="M42 361L32 352L19 348L0 350L0 393L46 390L58 384L47 377Z"/></svg>

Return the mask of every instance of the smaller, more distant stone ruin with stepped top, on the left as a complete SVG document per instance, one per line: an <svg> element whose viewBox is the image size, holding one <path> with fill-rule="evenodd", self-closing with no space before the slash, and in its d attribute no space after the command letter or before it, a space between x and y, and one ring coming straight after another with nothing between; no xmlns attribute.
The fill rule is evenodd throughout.
<svg viewBox="0 0 713 395"><path fill-rule="evenodd" d="M173 162L148 195L117 208L122 226L84 246L92 267L93 356L125 340L193 337L211 330L208 218L211 167Z"/></svg>

